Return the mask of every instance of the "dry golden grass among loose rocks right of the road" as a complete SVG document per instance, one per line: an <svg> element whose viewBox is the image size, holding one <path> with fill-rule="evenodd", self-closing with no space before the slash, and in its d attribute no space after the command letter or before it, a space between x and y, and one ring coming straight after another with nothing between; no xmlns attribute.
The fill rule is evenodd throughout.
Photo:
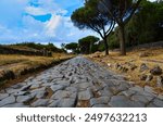
<svg viewBox="0 0 163 126"><path fill-rule="evenodd" d="M139 54L142 52L146 52L149 55L140 58ZM88 58L100 64L108 66L111 65L108 68L114 71L115 73L125 75L128 80L135 81L139 86L149 85L151 87L154 87L159 91L163 91L163 88L156 88L158 76L154 76L150 83L140 80L140 75L150 74L149 71L153 68L155 65L159 65L161 68L163 68L163 49L137 49L128 52L127 55L125 56L120 55L118 52L110 52L109 56L104 56L104 52L101 53L98 52L95 54L90 54ZM123 73L122 71L115 68L116 63L125 65L128 62L137 65L138 67L135 71L128 71L126 73ZM140 65L142 63L147 64L149 71L140 72Z"/></svg>

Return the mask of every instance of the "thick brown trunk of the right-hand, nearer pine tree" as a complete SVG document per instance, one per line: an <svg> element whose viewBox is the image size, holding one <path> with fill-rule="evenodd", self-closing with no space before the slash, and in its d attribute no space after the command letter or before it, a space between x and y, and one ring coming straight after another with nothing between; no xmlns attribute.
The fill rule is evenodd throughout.
<svg viewBox="0 0 163 126"><path fill-rule="evenodd" d="M118 27L120 27L118 38L120 38L121 54L126 55L125 27L124 25L118 25Z"/></svg>

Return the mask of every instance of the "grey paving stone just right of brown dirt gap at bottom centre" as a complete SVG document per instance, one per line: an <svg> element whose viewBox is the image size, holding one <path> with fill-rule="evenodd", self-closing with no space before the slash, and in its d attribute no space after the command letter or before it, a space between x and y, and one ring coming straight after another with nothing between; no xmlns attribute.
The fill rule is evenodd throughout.
<svg viewBox="0 0 163 126"><path fill-rule="evenodd" d="M109 97L92 98L90 99L90 105L92 106L95 104L108 104L109 100L110 100Z"/></svg>

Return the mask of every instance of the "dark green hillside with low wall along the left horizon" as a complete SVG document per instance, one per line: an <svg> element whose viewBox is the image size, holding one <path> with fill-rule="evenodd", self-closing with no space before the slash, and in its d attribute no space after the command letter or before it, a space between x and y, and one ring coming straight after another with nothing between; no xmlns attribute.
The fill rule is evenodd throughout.
<svg viewBox="0 0 163 126"><path fill-rule="evenodd" d="M16 45L0 45L0 54L24 54L52 56L52 52L65 52L53 43L41 45L35 42L23 42Z"/></svg>

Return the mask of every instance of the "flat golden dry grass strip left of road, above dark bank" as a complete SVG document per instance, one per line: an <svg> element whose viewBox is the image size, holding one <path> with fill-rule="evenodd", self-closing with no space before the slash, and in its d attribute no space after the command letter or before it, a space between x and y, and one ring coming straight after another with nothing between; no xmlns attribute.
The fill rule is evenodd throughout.
<svg viewBox="0 0 163 126"><path fill-rule="evenodd" d="M48 56L27 56L16 54L0 54L0 71L12 70L18 72L23 68L48 65L53 61L60 61L72 55L54 53L52 58Z"/></svg>

